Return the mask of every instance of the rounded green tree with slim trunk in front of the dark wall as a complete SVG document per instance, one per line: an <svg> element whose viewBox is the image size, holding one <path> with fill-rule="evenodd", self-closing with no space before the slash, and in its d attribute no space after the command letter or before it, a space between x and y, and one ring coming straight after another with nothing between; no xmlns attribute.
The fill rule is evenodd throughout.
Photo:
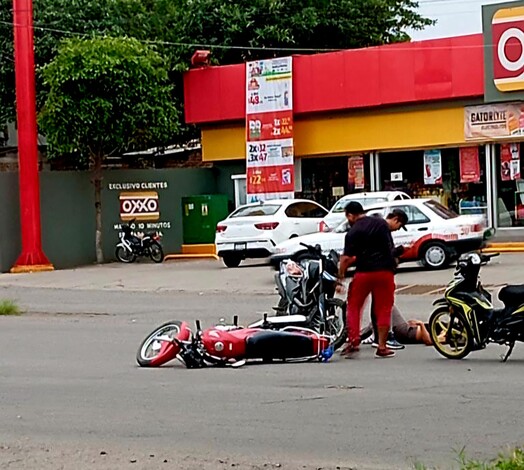
<svg viewBox="0 0 524 470"><path fill-rule="evenodd" d="M96 260L102 253L102 165L112 154L165 145L178 111L162 57L130 38L69 39L43 68L49 93L40 114L49 158L89 162L96 209Z"/></svg>

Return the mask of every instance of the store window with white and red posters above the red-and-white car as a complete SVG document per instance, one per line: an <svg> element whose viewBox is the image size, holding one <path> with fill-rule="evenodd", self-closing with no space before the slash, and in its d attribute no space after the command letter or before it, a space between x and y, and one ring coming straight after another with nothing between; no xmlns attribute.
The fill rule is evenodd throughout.
<svg viewBox="0 0 524 470"><path fill-rule="evenodd" d="M432 198L458 214L487 218L484 146L379 155L381 189Z"/></svg>

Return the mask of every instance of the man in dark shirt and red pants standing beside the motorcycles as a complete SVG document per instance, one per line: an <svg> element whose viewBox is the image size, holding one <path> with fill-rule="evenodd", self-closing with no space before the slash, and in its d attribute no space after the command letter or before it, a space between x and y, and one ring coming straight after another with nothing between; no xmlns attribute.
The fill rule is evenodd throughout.
<svg viewBox="0 0 524 470"><path fill-rule="evenodd" d="M362 307L371 294L378 331L375 356L393 357L395 353L386 345L395 298L397 267L390 225L379 217L366 216L358 202L351 201L345 210L351 229L346 234L339 279L344 279L353 262L356 263L356 273L351 284L351 295L348 295L348 343L343 354L350 356L359 350ZM397 211L396 219L397 230L407 222L403 211Z"/></svg>

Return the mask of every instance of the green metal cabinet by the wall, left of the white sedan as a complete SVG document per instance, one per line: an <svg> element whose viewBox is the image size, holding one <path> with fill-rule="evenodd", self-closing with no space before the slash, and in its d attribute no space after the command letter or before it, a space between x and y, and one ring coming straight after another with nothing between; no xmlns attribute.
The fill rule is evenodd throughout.
<svg viewBox="0 0 524 470"><path fill-rule="evenodd" d="M186 196L182 198L184 245L215 243L217 222L229 214L225 194Z"/></svg>

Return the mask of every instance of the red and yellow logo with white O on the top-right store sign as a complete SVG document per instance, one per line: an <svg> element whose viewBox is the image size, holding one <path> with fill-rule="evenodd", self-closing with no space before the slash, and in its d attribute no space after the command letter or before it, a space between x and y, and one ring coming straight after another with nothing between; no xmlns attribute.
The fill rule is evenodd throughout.
<svg viewBox="0 0 524 470"><path fill-rule="evenodd" d="M524 90L524 6L498 10L491 26L495 87L503 93Z"/></svg>

